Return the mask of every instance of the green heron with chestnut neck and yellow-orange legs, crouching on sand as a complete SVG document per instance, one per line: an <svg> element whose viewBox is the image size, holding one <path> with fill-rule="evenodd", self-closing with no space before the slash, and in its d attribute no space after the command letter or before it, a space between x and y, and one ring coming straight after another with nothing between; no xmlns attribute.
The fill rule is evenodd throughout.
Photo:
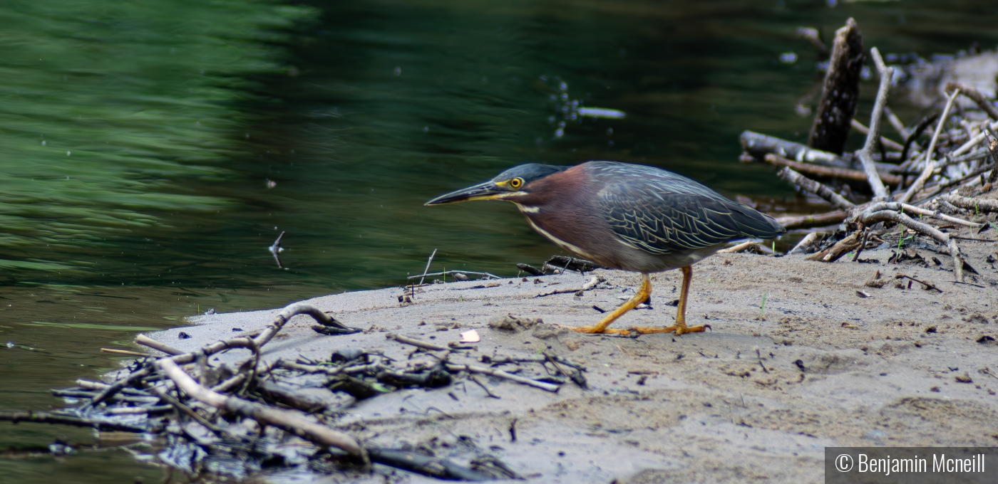
<svg viewBox="0 0 998 484"><path fill-rule="evenodd" d="M785 231L771 217L690 178L654 166L614 161L571 167L521 164L426 204L470 200L513 202L534 230L562 249L607 268L641 273L641 287L634 297L595 326L573 328L581 333L703 332L704 326L686 325L691 266L731 240L772 238ZM607 330L651 296L649 273L676 268L683 271L676 324Z"/></svg>

